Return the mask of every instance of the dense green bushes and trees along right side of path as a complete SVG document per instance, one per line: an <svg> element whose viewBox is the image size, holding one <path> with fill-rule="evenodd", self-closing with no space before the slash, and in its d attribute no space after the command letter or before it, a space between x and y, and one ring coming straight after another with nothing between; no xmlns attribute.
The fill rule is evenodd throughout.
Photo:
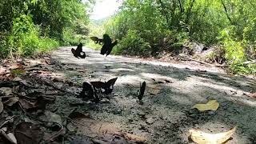
<svg viewBox="0 0 256 144"><path fill-rule="evenodd" d="M105 29L120 40L115 54L158 56L198 42L214 47L208 61L226 63L231 73L255 74L255 6L252 0L124 0Z"/></svg>

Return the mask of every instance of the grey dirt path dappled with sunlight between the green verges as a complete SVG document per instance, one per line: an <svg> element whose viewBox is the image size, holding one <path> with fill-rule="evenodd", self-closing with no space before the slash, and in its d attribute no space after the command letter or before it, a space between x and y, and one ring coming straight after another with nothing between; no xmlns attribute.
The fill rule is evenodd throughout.
<svg viewBox="0 0 256 144"><path fill-rule="evenodd" d="M256 142L256 98L244 94L255 92L255 79L230 76L216 67L198 63L142 61L105 57L85 48L84 51L85 59L74 58L70 47L54 52L53 58L66 67L56 72L78 83L118 77L114 93L110 101L85 106L70 107L70 103L81 102L72 94L58 98L54 104L61 106L57 114L77 109L103 122L99 129L107 125L108 131L129 132L146 138L147 143L190 143L190 129L217 133L236 125L238 130L228 143ZM138 105L136 95L143 81L150 87L146 87L144 104ZM216 112L191 109L210 99L220 103ZM88 135L90 131L86 126L78 126L77 134Z"/></svg>

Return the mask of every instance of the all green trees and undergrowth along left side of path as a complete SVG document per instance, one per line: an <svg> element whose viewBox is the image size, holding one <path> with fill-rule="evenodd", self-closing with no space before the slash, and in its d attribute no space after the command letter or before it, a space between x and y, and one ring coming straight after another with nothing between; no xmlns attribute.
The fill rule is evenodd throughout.
<svg viewBox="0 0 256 144"><path fill-rule="evenodd" d="M3 0L0 2L0 57L18 58L78 44L88 34L90 2Z"/></svg>

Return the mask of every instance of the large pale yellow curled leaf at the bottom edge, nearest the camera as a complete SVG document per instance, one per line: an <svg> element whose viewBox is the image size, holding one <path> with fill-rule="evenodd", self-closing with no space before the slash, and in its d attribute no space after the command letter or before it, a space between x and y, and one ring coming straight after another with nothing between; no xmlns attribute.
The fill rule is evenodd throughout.
<svg viewBox="0 0 256 144"><path fill-rule="evenodd" d="M190 130L191 139L198 144L222 144L226 142L236 130L236 126L227 132L209 134L201 130Z"/></svg>

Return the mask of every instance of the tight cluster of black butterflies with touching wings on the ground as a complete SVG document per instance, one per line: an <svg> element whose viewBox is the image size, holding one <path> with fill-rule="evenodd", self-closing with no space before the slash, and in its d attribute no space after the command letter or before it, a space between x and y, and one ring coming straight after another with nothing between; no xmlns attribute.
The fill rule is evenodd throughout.
<svg viewBox="0 0 256 144"><path fill-rule="evenodd" d="M114 83L118 78L112 78L108 82L83 82L82 91L79 98L94 99L94 102L99 102L100 94L111 94L114 89Z"/></svg>

